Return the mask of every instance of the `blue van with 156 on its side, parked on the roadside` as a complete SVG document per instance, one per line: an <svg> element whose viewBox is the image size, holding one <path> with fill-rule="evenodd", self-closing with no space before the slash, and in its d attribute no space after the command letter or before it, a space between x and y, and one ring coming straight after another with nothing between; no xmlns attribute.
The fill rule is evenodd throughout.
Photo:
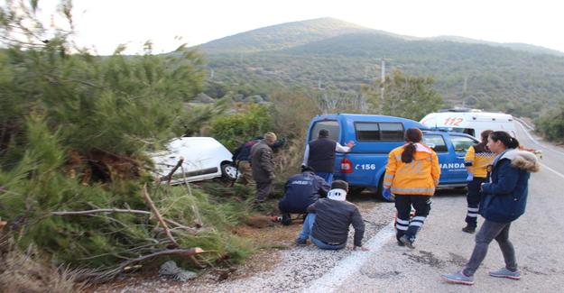
<svg viewBox="0 0 564 293"><path fill-rule="evenodd" d="M423 143L437 152L441 169L439 187L465 187L464 156L478 141L464 133L429 131L416 121L393 116L322 114L311 120L307 140L315 140L319 130L327 129L329 138L342 145L355 142L350 152L337 152L334 177L347 181L352 192L374 188L381 195L388 153L405 143L403 133L412 127L420 128Z"/></svg>

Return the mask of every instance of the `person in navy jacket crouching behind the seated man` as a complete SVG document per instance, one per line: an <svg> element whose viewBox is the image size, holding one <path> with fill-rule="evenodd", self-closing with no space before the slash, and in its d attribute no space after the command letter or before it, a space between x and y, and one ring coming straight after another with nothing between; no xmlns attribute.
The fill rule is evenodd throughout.
<svg viewBox="0 0 564 293"><path fill-rule="evenodd" d="M284 197L278 202L282 212L282 224L291 224L290 214L306 214L307 208L327 196L331 188L324 179L313 173L308 166L301 167L301 173L292 176L284 185Z"/></svg>

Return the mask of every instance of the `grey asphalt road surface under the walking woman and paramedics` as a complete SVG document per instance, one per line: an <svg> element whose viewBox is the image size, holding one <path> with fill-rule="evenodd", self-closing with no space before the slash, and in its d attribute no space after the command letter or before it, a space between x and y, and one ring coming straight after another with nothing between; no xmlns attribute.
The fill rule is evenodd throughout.
<svg viewBox="0 0 564 293"><path fill-rule="evenodd" d="M510 231L522 270L521 280L488 276L489 270L504 267L495 242L490 244L485 261L476 271L473 286L448 284L440 279L442 273L460 270L474 247L474 235L460 230L465 225L466 197L447 194L433 198L430 216L414 250L397 246L389 226L369 241L373 248L370 252L354 252L305 291L564 291L564 149L538 142L520 124L516 127L523 145L543 151L543 168L530 181L527 211L513 222ZM478 224L482 220L479 218Z"/></svg>

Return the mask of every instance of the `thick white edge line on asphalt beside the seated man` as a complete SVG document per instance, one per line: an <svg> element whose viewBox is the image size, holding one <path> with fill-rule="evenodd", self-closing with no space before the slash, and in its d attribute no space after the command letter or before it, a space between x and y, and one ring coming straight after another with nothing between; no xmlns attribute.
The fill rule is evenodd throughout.
<svg viewBox="0 0 564 293"><path fill-rule="evenodd" d="M370 251L352 252L345 259L339 261L333 269L321 276L321 278L313 281L303 292L333 292L339 288L345 280L355 275L363 264L370 259L370 256L377 253L382 246L384 246L384 243L387 243L394 235L395 232L393 231L392 222L387 224L382 230L376 233L372 239L365 243L365 246L370 249Z"/></svg>

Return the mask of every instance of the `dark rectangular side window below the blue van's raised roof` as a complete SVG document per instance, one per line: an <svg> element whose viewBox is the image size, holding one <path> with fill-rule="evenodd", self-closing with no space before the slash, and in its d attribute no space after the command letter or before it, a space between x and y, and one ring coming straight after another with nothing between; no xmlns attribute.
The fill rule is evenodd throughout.
<svg viewBox="0 0 564 293"><path fill-rule="evenodd" d="M358 142L402 142L403 124L399 123L355 123Z"/></svg>

